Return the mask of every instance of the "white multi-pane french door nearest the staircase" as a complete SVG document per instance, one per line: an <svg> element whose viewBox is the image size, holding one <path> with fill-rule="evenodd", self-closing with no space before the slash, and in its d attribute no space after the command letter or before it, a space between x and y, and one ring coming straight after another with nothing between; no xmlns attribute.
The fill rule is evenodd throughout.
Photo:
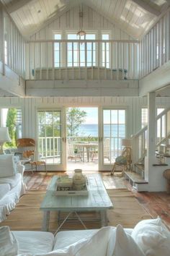
<svg viewBox="0 0 170 256"><path fill-rule="evenodd" d="M122 153L121 140L126 134L125 109L102 109L102 127L99 129L99 169L110 170L117 155Z"/></svg>

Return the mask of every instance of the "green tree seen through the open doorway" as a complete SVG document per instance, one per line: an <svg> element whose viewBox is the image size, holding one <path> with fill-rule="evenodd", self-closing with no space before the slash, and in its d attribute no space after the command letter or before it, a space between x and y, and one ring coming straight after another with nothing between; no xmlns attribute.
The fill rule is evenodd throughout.
<svg viewBox="0 0 170 256"><path fill-rule="evenodd" d="M86 111L81 111L79 108L68 108L66 113L67 119L67 135L76 137L78 135L80 125L86 119Z"/></svg>

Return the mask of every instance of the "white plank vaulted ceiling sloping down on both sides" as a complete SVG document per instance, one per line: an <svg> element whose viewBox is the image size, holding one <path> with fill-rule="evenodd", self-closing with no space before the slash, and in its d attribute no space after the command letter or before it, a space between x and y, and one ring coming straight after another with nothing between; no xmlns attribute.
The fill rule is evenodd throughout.
<svg viewBox="0 0 170 256"><path fill-rule="evenodd" d="M1 0L24 37L60 17L75 5L86 4L134 38L140 38L161 16L169 0Z"/></svg>

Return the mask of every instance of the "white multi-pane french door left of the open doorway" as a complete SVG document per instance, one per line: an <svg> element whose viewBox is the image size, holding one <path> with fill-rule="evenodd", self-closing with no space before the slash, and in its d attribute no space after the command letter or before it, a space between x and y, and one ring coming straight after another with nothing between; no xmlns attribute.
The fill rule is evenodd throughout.
<svg viewBox="0 0 170 256"><path fill-rule="evenodd" d="M65 123L64 108L37 111L37 158L51 171L66 169Z"/></svg>

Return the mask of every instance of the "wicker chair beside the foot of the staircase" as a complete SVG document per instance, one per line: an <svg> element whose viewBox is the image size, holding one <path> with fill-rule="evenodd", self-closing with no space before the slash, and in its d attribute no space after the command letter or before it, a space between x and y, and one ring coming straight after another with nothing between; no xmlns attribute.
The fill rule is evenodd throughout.
<svg viewBox="0 0 170 256"><path fill-rule="evenodd" d="M132 149L130 147L125 147L122 150L122 155L118 156L115 159L115 163L113 165L111 175L114 175L115 170L118 167L120 167L121 174L119 176L123 176L125 171L130 171L131 170L131 154L132 154Z"/></svg>

